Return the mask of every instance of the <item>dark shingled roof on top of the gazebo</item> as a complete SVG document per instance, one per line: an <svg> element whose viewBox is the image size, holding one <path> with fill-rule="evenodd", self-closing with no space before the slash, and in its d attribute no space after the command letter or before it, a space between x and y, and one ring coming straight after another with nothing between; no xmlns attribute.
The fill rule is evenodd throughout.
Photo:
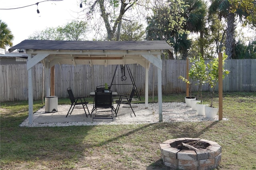
<svg viewBox="0 0 256 170"><path fill-rule="evenodd" d="M11 47L15 49L35 50L171 50L165 41L56 41L24 40Z"/></svg>

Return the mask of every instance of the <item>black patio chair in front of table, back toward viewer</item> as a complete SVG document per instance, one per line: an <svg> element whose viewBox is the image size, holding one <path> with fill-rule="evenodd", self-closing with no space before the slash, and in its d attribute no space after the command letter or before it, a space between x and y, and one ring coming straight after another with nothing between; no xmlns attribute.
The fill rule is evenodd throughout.
<svg viewBox="0 0 256 170"><path fill-rule="evenodd" d="M114 112L112 91L106 93L95 91L94 106L91 113L92 121L93 119L112 119L113 121Z"/></svg>

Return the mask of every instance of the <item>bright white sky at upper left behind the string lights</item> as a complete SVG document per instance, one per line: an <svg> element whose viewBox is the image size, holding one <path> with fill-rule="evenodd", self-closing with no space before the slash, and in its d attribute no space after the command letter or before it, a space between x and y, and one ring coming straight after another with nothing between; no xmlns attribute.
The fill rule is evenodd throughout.
<svg viewBox="0 0 256 170"><path fill-rule="evenodd" d="M36 31L42 31L48 27L64 26L68 22L78 18L81 11L80 0L46 1L44 0L0 0L0 8L25 8L13 10L0 10L0 20L8 25L14 35L13 45L17 45L28 39ZM8 49L6 49L8 50Z"/></svg>

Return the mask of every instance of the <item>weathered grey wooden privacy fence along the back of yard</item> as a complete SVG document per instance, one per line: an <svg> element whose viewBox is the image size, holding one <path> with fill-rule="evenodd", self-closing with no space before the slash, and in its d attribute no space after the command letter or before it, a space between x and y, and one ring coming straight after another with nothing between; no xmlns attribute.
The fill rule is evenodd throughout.
<svg viewBox="0 0 256 170"><path fill-rule="evenodd" d="M206 61L207 62L207 61ZM145 94L145 68L140 65L129 65L134 82L140 96ZM224 65L230 74L223 80L223 91L256 91L256 59L227 60ZM55 95L67 98L67 87L71 87L75 95L88 96L96 86L108 83L110 85L116 65L55 65ZM43 65L38 63L33 67L34 100L43 97L45 81ZM0 65L0 101L28 100L28 71L26 64ZM112 91L119 94L130 94L132 81L128 71L125 71L126 81L121 81L121 67L118 65L114 76ZM178 76L186 76L186 60L163 60L162 93L182 93L186 91L186 84ZM149 95L157 94L157 68L150 65ZM124 85L125 84L125 85ZM44 88L43 88L44 86ZM198 87L194 87L196 91ZM218 88L217 88L218 89ZM202 87L208 91L208 85ZM45 96L45 93L44 93Z"/></svg>

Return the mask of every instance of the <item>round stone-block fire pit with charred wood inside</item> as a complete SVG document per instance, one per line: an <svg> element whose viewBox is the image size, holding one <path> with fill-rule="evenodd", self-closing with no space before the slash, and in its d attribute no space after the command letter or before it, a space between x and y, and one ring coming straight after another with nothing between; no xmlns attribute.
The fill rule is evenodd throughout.
<svg viewBox="0 0 256 170"><path fill-rule="evenodd" d="M199 141L204 149L181 150L178 145L182 142ZM217 168L221 160L221 146L213 141L201 138L176 138L160 144L163 162L173 169L207 170Z"/></svg>

